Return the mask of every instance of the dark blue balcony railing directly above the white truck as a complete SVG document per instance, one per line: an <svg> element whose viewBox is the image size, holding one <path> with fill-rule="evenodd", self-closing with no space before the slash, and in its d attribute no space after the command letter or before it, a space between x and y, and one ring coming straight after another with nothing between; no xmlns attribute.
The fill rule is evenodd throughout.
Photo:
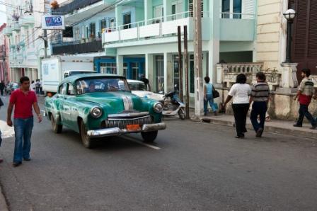
<svg viewBox="0 0 317 211"><path fill-rule="evenodd" d="M100 52L103 51L101 40L77 40L72 42L59 42L52 43L53 55L75 55L88 52Z"/></svg>

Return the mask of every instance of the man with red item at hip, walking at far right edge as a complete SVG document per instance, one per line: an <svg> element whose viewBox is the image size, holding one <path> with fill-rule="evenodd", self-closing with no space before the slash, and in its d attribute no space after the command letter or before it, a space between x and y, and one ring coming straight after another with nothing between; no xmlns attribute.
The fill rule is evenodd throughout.
<svg viewBox="0 0 317 211"><path fill-rule="evenodd" d="M304 116L311 122L311 129L316 129L317 122L309 113L309 103L311 103L311 98L315 93L315 89L313 88L313 80L309 78L311 75L311 70L308 68L304 68L301 70L301 84L299 84L299 90L297 91L296 96L294 97L294 101L298 98L299 101L299 118L294 125L294 127L302 127Z"/></svg>

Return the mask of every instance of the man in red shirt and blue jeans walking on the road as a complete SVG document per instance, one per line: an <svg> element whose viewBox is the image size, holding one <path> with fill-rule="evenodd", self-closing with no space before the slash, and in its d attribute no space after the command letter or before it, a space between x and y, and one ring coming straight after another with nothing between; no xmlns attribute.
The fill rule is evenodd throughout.
<svg viewBox="0 0 317 211"><path fill-rule="evenodd" d="M11 93L8 105L8 116L6 123L8 126L14 126L15 146L13 155L13 166L22 164L22 159L30 161L31 135L33 130L33 110L38 115L38 122L42 122L42 115L38 107L38 99L34 91L30 91L30 79L23 76L20 79L20 89ZM14 106L13 123L11 114Z"/></svg>

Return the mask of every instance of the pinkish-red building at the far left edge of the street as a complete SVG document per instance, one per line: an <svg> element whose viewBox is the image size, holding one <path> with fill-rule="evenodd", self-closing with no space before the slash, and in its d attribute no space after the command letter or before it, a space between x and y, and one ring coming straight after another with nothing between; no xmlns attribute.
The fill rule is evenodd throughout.
<svg viewBox="0 0 317 211"><path fill-rule="evenodd" d="M6 23L0 26L0 80L8 83L10 78L10 67L8 61L9 40L2 31L6 28Z"/></svg>

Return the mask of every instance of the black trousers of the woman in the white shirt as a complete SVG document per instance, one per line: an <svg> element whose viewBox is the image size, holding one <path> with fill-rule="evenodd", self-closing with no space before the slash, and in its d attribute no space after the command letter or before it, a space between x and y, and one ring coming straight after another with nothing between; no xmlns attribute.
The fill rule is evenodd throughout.
<svg viewBox="0 0 317 211"><path fill-rule="evenodd" d="M232 104L234 110L234 121L236 123L236 135L243 137L246 132L246 115L249 110L249 103Z"/></svg>

